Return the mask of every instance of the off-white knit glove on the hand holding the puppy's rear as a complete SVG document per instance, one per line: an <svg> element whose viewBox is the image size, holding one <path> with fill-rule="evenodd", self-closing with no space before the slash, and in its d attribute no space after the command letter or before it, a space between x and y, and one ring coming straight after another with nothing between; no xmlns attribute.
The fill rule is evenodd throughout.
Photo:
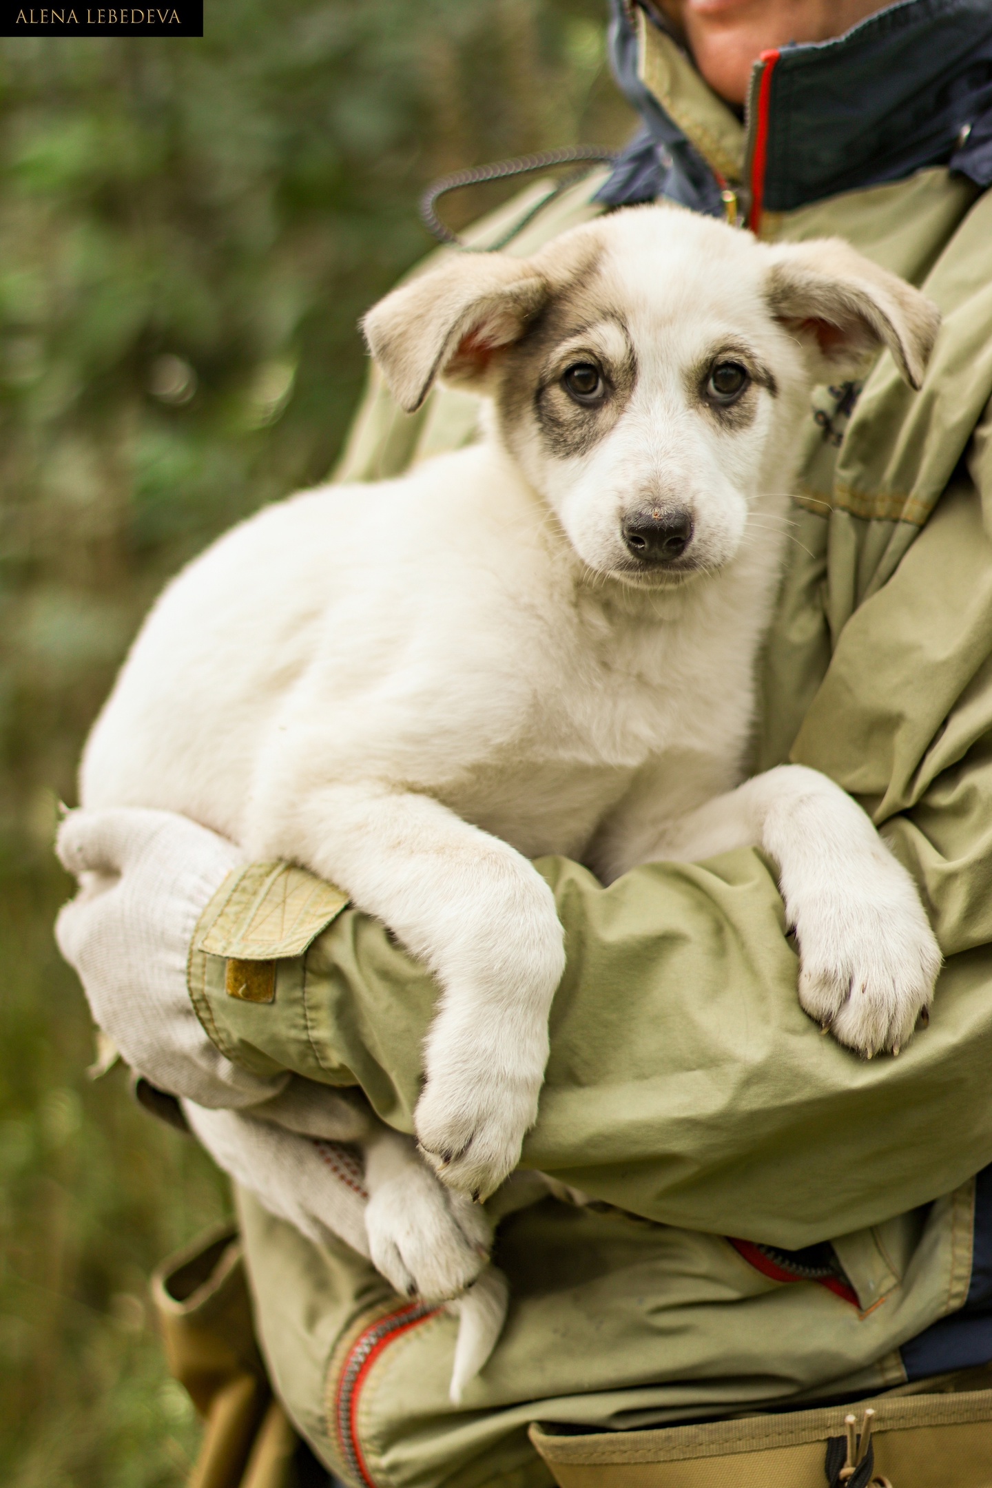
<svg viewBox="0 0 992 1488"><path fill-rule="evenodd" d="M150 1085L199 1106L266 1101L289 1082L238 1068L207 1037L186 990L196 923L241 862L225 838L171 811L73 811L55 850L80 881L55 939L94 1021Z"/></svg>

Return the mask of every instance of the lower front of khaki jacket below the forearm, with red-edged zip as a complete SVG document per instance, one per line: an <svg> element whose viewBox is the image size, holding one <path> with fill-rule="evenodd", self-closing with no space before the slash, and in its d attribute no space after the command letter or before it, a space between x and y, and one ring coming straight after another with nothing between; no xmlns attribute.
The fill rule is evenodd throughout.
<svg viewBox="0 0 992 1488"><path fill-rule="evenodd" d="M952 1205L964 1231L970 1195ZM434 1309L418 1315L347 1245L312 1245L244 1192L239 1217L259 1336L280 1399L347 1482L397 1488L537 1488L550 1479L528 1443L532 1421L605 1431L622 1452L617 1443L626 1440L666 1439L637 1430L648 1423L904 1388L892 1344L918 1329L928 1278L937 1272L947 1283L955 1228L940 1205L921 1216L922 1234L901 1280L892 1265L906 1257L894 1245L883 1251L885 1237L873 1237L873 1259L854 1256L851 1245L845 1262L858 1262L869 1289L858 1308L817 1283L770 1281L718 1237L546 1199L503 1220L507 1324L492 1360L454 1408L455 1318ZM885 1289L875 1302L873 1286ZM391 1335L390 1320L402 1323ZM355 1354L367 1363L350 1394ZM787 1433L805 1414L773 1420ZM735 1440L738 1424L727 1431ZM602 1443L604 1436L583 1440ZM895 1488L904 1485L895 1481Z"/></svg>

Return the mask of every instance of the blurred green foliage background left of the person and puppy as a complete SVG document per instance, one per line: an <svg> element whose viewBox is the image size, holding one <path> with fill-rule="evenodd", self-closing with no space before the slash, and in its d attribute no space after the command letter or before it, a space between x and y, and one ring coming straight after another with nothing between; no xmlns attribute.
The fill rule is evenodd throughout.
<svg viewBox="0 0 992 1488"><path fill-rule="evenodd" d="M605 0L207 0L202 42L0 40L6 1488L184 1482L146 1278L228 1208L119 1068L85 1073L51 842L86 728L162 580L332 469L355 321L431 247L422 186L628 137L604 28Z"/></svg>

